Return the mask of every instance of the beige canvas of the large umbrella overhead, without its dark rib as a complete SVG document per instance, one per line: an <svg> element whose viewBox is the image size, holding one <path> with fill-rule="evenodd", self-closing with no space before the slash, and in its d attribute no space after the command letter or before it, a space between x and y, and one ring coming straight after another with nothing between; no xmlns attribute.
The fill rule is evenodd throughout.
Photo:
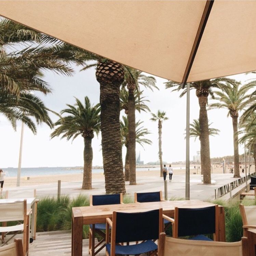
<svg viewBox="0 0 256 256"><path fill-rule="evenodd" d="M0 1L0 15L181 82L207 1ZM256 1L214 1L188 82L256 70Z"/></svg>

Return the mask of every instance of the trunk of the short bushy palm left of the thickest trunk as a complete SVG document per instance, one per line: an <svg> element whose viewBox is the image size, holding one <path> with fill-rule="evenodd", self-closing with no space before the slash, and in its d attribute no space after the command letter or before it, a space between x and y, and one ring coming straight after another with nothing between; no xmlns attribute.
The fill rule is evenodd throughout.
<svg viewBox="0 0 256 256"><path fill-rule="evenodd" d="M84 138L84 151L83 151L83 184L82 189L92 189L92 138Z"/></svg>

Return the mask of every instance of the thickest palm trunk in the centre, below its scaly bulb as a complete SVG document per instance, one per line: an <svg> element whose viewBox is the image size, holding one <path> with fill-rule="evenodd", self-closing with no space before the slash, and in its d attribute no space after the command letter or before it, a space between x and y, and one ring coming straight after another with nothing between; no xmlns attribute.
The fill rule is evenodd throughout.
<svg viewBox="0 0 256 256"><path fill-rule="evenodd" d="M100 130L106 193L124 193L118 83L100 83Z"/></svg>

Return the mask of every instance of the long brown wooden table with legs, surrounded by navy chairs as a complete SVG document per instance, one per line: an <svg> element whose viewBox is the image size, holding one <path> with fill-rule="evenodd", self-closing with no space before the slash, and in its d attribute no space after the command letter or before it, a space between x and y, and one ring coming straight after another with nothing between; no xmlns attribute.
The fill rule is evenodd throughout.
<svg viewBox="0 0 256 256"><path fill-rule="evenodd" d="M82 256L83 225L104 223L106 218L111 218L116 212L146 212L163 208L163 214L174 217L175 207L202 208L214 204L199 200L163 201L151 203L112 204L72 208L72 256ZM219 207L219 241L225 242L225 215L224 207Z"/></svg>

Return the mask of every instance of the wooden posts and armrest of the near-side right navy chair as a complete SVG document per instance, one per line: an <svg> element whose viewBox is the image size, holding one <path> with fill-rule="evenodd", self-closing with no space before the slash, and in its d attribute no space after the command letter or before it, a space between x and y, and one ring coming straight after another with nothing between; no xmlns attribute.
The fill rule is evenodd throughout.
<svg viewBox="0 0 256 256"><path fill-rule="evenodd" d="M178 219L179 208L175 207L174 219L163 214L163 218L169 220L173 224L173 238L178 238ZM215 205L215 233L213 233L213 240L219 241L219 207Z"/></svg>

